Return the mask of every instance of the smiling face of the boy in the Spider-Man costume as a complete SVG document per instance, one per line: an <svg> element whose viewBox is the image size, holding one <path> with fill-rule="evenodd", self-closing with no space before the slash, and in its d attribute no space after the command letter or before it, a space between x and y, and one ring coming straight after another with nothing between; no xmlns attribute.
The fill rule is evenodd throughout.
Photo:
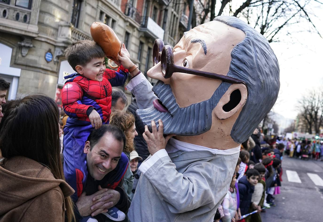
<svg viewBox="0 0 323 222"><path fill-rule="evenodd" d="M93 58L86 65L77 65L75 68L76 71L85 78L99 82L103 80L103 73L106 69L104 57Z"/></svg>

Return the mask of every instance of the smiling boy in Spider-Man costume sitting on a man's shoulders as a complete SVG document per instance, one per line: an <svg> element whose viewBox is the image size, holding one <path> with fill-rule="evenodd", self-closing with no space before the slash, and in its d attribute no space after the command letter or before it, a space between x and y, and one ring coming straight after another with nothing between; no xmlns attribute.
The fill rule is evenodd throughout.
<svg viewBox="0 0 323 222"><path fill-rule="evenodd" d="M65 56L76 73L64 77L68 80L62 90L64 111L69 116L64 128L64 175L75 190L72 199L77 202L88 175L86 154L83 153L85 142L94 128L109 124L111 86L123 85L128 77L128 69L122 65L117 71L106 69L104 52L89 40L72 43L65 50ZM114 189L117 186L127 170L128 162L127 156L122 153L117 167L110 172L113 181L109 181L106 188ZM121 211L115 208L114 212L120 214ZM111 214L114 212L111 211Z"/></svg>

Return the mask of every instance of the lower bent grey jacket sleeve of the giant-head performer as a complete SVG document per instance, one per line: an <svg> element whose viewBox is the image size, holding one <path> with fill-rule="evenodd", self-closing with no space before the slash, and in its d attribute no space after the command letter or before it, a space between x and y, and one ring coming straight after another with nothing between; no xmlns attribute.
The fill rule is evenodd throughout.
<svg viewBox="0 0 323 222"><path fill-rule="evenodd" d="M215 197L217 192L213 192L215 187L225 186L217 184L217 176L209 162L195 162L185 172L179 173L169 156L165 156L141 174L143 176L151 182L174 214L210 203L215 206L223 198Z"/></svg>

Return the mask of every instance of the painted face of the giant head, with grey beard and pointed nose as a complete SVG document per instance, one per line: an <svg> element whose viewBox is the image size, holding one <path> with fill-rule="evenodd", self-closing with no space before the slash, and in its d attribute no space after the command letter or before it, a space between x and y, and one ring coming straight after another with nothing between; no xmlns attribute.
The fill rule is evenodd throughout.
<svg viewBox="0 0 323 222"><path fill-rule="evenodd" d="M244 37L245 34L241 30L221 22L212 21L199 25L186 32L174 47L174 64L226 75L231 63L231 51ZM152 118L155 121L160 118L164 122L164 132L177 135L198 135L209 130L212 123L211 112L230 86L229 83L224 83L219 89L220 92L217 93L215 91L221 81L179 72L165 79L161 72L161 63L152 67L147 75L160 80L154 86L153 91L169 113L162 112L159 104L154 104L157 109L151 107L137 113L148 125L149 118L150 121ZM206 110L202 110L198 103L207 101L213 96L218 98L203 104ZM190 107L192 105L194 107ZM180 120L184 116L185 119ZM185 127L183 124L187 121L192 124ZM170 127L174 126L176 129L171 130Z"/></svg>

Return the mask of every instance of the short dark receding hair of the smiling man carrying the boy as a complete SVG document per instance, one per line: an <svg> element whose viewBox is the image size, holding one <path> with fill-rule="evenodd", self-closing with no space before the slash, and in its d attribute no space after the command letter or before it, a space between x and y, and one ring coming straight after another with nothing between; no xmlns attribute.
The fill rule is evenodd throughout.
<svg viewBox="0 0 323 222"><path fill-rule="evenodd" d="M110 124L103 124L99 129L94 129L87 141L90 141L90 150L97 144L103 135L106 133L110 133L114 139L123 142L123 149L126 146L126 136L124 135L124 132L117 126L110 125ZM122 149L122 150L123 150Z"/></svg>

